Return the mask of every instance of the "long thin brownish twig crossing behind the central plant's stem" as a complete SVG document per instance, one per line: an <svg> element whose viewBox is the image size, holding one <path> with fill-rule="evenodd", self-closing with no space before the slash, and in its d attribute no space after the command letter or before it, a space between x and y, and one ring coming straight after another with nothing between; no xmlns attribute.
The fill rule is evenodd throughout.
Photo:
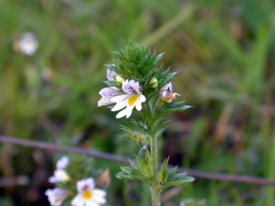
<svg viewBox="0 0 275 206"><path fill-rule="evenodd" d="M27 146L31 148L40 148L43 150L74 153L78 155L85 155L85 156L95 157L98 159L105 159L107 161L115 161L120 163L129 163L129 160L133 161L133 159L131 158L126 158L119 155L108 154L105 152L98 152L96 150L87 150L83 148L57 146L54 144L45 143L43 141L22 140L14 137L0 136L0 142L17 144L20 146ZM173 168L175 167L175 165L168 165L168 167ZM267 185L275 186L275 181L269 181L267 179L256 178L253 176L240 176L240 175L233 175L233 174L200 172L197 170L190 170L190 169L185 169L181 167L177 168L177 172L187 172L188 175L194 176L197 179L208 179L208 180L214 180L214 181L230 181L230 182L236 182L236 183L246 183L246 184L263 185L263 186L267 186Z"/></svg>

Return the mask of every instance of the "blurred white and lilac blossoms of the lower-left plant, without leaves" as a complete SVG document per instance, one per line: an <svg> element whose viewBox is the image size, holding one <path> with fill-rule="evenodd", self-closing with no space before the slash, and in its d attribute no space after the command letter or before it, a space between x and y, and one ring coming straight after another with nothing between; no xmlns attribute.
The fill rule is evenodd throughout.
<svg viewBox="0 0 275 206"><path fill-rule="evenodd" d="M56 183L58 186L54 189L48 189L45 192L50 205L63 205L67 199L71 199L68 204L72 206L97 206L106 203L105 196L107 192L96 189L96 183L91 177L74 182L66 172L68 165L69 158L65 156L56 162L56 170L54 171L54 175L50 176L49 182ZM106 176L106 174L104 175ZM71 185L75 185L74 187L76 187L76 189L72 190L70 183ZM76 190L78 194L74 194Z"/></svg>

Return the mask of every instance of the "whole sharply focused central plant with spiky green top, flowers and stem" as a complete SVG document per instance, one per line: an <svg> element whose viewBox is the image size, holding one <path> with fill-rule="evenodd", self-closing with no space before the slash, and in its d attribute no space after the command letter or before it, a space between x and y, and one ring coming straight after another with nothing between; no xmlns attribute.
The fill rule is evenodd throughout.
<svg viewBox="0 0 275 206"><path fill-rule="evenodd" d="M172 80L176 73L169 69L157 68L163 54L151 54L147 47L138 47L133 41L113 52L112 65L107 67L108 87L100 90L102 98L98 106L109 106L117 112L116 117L129 118L133 112L142 117L142 122L132 119L136 129L122 126L126 135L121 137L141 144L145 157L135 157L128 167L121 167L118 179L144 181L151 189L152 205L159 205L159 194L168 187L184 185L194 181L186 173L177 174L177 168L167 167L165 159L157 168L157 140L166 129L168 120L165 115L184 111L190 106L184 102L175 102L178 93L173 92Z"/></svg>

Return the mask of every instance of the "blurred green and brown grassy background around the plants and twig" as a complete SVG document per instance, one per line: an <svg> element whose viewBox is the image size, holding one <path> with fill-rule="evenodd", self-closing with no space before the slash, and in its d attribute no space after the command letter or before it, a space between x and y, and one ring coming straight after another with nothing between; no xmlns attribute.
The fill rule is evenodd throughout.
<svg viewBox="0 0 275 206"><path fill-rule="evenodd" d="M41 0L0 1L0 133L131 157L109 108L98 108L111 51L129 39L165 52L164 68L179 71L176 113L160 159L205 172L275 180L275 2ZM39 41L34 56L12 48L24 32ZM135 117L135 116L133 116ZM137 117L137 116L136 116ZM28 185L1 188L0 205L48 205L43 192L56 154L2 144L2 177L26 175ZM109 168L107 205L149 205L146 185L118 181ZM274 205L274 187L197 179L164 205ZM205 203L205 204L204 204Z"/></svg>

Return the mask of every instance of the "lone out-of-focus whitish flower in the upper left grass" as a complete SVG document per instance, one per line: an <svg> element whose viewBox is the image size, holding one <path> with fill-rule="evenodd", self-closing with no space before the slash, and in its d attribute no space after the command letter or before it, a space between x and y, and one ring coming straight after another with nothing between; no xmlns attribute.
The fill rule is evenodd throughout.
<svg viewBox="0 0 275 206"><path fill-rule="evenodd" d="M32 56L35 54L36 49L39 47L39 43L36 36L31 32L24 33L19 41L14 42L14 50Z"/></svg>

